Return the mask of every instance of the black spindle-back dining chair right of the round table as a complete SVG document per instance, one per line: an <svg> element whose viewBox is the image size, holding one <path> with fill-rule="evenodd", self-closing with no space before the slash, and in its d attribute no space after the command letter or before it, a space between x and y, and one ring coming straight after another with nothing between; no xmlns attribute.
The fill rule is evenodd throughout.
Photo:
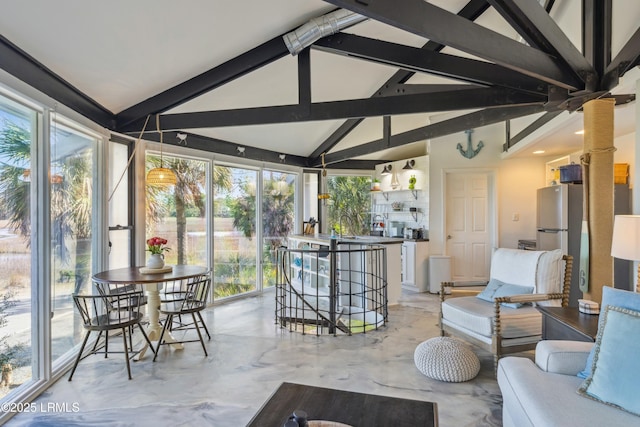
<svg viewBox="0 0 640 427"><path fill-rule="evenodd" d="M201 276L199 280L190 281L185 285L184 299L160 304L160 314L165 315L166 318L162 325L162 333L160 334L160 339L158 340L158 346L155 352L156 354L153 357L154 362L158 357L161 345L200 341L205 356L209 355L204 344L204 339L202 338L200 326L203 327L203 329L207 333L207 336L209 337L209 339L211 339L211 335L209 334L209 330L207 329L207 325L205 324L201 314L201 312L207 307L207 296L209 294L210 287L211 278L208 275ZM183 338L182 340L166 342L165 335L172 330L174 319L178 316L185 316L189 314L193 319L193 328L198 333L198 340Z"/></svg>

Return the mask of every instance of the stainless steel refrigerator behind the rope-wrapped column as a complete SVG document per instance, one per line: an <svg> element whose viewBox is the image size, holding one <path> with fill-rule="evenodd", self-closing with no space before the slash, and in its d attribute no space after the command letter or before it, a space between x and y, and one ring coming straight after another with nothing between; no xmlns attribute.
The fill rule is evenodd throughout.
<svg viewBox="0 0 640 427"><path fill-rule="evenodd" d="M578 306L582 292L578 286L580 259L580 233L582 229L582 185L560 184L538 190L536 220L536 246L538 250L562 249L562 253L573 256L571 275L571 293L569 305ZM614 193L614 212L630 213L629 187L616 185ZM614 282L619 289L631 286L630 262L615 260Z"/></svg>

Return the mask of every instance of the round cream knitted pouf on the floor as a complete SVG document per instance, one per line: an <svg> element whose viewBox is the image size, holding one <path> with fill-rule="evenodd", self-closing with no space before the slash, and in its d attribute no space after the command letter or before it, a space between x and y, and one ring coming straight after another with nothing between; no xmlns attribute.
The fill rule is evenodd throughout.
<svg viewBox="0 0 640 427"><path fill-rule="evenodd" d="M480 372L480 360L462 341L436 337L420 343L413 353L420 372L438 381L469 381Z"/></svg>

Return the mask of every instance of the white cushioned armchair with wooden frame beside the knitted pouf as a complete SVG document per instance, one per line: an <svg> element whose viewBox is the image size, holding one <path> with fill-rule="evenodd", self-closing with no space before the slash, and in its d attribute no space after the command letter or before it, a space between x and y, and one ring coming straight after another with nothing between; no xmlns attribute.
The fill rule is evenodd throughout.
<svg viewBox="0 0 640 427"><path fill-rule="evenodd" d="M497 249L491 259L489 287L510 286L504 286L504 292L495 291L495 297L486 301L477 296L447 295L454 283L443 282L440 335L457 335L487 349L496 368L503 354L534 349L542 339L542 316L535 306L567 306L572 265L572 257L563 256L560 250ZM530 293L510 294L507 288Z"/></svg>

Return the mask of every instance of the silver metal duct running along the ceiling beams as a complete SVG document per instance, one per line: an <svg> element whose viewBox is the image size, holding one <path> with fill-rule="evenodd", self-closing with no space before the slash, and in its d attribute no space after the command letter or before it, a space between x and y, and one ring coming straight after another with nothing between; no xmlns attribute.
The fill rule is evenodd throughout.
<svg viewBox="0 0 640 427"><path fill-rule="evenodd" d="M368 18L346 9L338 9L318 18L313 18L296 30L282 36L284 43L292 55L297 55L304 48L311 46L322 37L335 34L340 30L365 21Z"/></svg>

